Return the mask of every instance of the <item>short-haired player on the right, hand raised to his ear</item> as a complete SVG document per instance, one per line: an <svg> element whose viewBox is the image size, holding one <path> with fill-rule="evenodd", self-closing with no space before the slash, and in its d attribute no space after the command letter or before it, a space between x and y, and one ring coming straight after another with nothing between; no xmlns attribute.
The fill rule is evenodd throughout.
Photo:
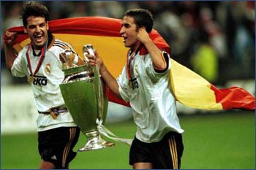
<svg viewBox="0 0 256 170"><path fill-rule="evenodd" d="M87 55L91 66L99 66L106 84L119 98L129 102L137 132L129 152L133 169L180 169L184 150L170 90L170 54L159 49L148 35L153 28L151 12L131 9L124 14L121 36L129 47L127 65L115 79L97 51Z"/></svg>

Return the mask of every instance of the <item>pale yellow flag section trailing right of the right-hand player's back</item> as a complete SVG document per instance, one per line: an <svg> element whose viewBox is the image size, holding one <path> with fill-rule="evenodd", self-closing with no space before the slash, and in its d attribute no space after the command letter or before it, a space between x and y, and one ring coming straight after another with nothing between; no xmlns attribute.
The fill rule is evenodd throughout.
<svg viewBox="0 0 256 170"><path fill-rule="evenodd" d="M198 109L222 109L222 104L216 102L211 84L203 77L174 60L171 60L170 75L171 88L181 104Z"/></svg>

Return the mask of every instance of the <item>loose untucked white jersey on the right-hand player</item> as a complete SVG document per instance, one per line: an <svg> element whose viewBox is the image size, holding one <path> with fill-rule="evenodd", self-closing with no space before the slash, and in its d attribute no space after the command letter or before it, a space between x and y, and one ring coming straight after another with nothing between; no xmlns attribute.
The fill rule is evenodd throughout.
<svg viewBox="0 0 256 170"><path fill-rule="evenodd" d="M132 107L136 137L143 142L159 142L169 131L184 132L170 90L170 56L165 55L169 62L164 72L156 72L149 54L137 53L131 62L132 83L127 78L127 66L117 78L121 97Z"/></svg>

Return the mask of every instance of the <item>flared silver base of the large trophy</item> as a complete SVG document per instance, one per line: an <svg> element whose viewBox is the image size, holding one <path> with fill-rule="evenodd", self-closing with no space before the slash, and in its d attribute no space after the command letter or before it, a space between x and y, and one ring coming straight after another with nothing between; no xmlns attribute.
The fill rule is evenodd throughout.
<svg viewBox="0 0 256 170"><path fill-rule="evenodd" d="M87 133L86 136L88 138L88 142L86 142L86 145L84 145L84 147L78 149L78 152L99 150L105 147L115 146L113 142L106 142L104 139L102 139L98 131L92 131L90 133Z"/></svg>

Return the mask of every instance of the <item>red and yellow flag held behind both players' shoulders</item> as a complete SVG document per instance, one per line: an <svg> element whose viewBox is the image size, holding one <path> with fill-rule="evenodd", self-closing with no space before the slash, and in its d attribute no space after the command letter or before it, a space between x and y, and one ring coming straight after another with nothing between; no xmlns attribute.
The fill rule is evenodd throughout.
<svg viewBox="0 0 256 170"><path fill-rule="evenodd" d="M56 38L72 44L81 57L83 45L93 45L110 73L114 77L121 73L128 51L119 34L121 20L102 17L66 18L51 20L49 28ZM28 36L23 33L23 26L10 28L8 31L18 31L17 45L14 46L17 50L29 43ZM150 36L157 47L170 53L169 45L156 30ZM146 53L146 48L142 47L140 54ZM255 109L255 96L243 88L219 89L173 59L171 65L170 88L181 104L196 109ZM110 101L129 106L116 98L108 88L107 96Z"/></svg>

